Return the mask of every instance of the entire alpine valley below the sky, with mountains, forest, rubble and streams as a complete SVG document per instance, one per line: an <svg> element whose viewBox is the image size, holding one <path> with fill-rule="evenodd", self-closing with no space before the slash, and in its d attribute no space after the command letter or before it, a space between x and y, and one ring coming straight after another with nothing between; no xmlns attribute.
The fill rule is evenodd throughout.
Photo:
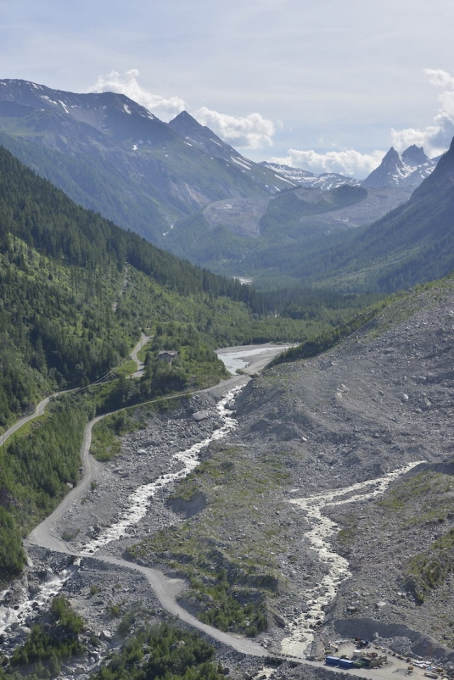
<svg viewBox="0 0 454 680"><path fill-rule="evenodd" d="M454 143L9 79L0 143L0 680L453 676Z"/></svg>

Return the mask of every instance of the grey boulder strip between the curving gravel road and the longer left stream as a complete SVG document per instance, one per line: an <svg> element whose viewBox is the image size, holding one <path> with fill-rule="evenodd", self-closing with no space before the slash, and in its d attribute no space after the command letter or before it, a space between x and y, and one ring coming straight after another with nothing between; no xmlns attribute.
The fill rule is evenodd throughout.
<svg viewBox="0 0 454 680"><path fill-rule="evenodd" d="M70 547L77 552L99 537L106 527L115 525L138 487L177 472L182 464L172 456L206 439L220 427L215 405L216 400L209 394L194 395L190 405L156 414L145 429L124 436L121 455L103 464L82 503L75 504L56 527L57 534L71 537ZM165 503L175 484L162 481L158 486L161 488L146 515L138 524L131 524L121 539L103 547L104 553L121 554L138 537L182 521L181 515L172 512Z"/></svg>

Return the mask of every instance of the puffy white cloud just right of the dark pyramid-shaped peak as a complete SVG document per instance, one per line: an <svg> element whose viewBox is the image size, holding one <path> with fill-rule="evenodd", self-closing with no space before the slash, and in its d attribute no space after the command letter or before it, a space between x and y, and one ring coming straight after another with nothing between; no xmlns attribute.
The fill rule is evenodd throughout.
<svg viewBox="0 0 454 680"><path fill-rule="evenodd" d="M232 146L248 149L272 146L275 124L263 118L261 114L229 116L202 106L195 112L194 117L201 125L209 127L223 141Z"/></svg>

